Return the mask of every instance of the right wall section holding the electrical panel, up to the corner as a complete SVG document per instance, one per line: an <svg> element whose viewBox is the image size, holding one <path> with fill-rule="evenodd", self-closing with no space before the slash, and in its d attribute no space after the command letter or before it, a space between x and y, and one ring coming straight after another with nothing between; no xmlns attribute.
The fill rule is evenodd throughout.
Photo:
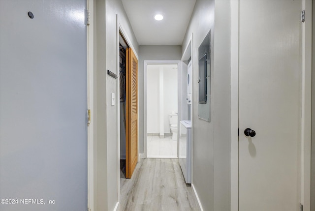
<svg viewBox="0 0 315 211"><path fill-rule="evenodd" d="M193 87L192 87L192 183L197 191L202 207L206 211L214 209L214 140L213 140L213 106L211 105L211 122L198 119L198 47L202 40L212 29L211 40L213 40L214 29L214 0L197 0L189 27L186 31L182 45L182 53L188 45L191 33L193 33ZM213 70L213 45L211 47L211 69ZM211 72L211 76L213 76ZM214 78L213 76L212 78ZM211 82L211 84L213 84ZM212 87L211 87L212 88ZM213 89L211 89L213 90ZM213 93L213 91L211 92ZM213 98L213 95L212 95ZM213 102L213 100L211 100Z"/></svg>

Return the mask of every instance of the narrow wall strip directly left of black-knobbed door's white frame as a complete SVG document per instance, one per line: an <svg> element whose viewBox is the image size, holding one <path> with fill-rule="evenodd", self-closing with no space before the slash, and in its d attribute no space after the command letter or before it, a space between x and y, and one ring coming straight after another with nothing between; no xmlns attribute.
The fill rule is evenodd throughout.
<svg viewBox="0 0 315 211"><path fill-rule="evenodd" d="M231 3L215 0L214 37L214 210L230 208L230 28Z"/></svg>

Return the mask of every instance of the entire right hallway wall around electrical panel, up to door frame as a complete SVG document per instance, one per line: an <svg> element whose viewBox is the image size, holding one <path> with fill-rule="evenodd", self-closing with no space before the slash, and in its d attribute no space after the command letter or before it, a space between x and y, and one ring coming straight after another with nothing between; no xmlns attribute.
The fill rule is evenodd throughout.
<svg viewBox="0 0 315 211"><path fill-rule="evenodd" d="M198 47L211 30L211 122L198 118ZM230 1L197 0L193 33L192 183L204 210L230 210Z"/></svg>

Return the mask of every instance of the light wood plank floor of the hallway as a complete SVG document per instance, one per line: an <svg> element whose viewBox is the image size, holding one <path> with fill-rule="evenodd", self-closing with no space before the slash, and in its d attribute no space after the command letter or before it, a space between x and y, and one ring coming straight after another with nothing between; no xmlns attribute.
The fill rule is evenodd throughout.
<svg viewBox="0 0 315 211"><path fill-rule="evenodd" d="M200 211L178 162L171 158L145 158L131 179L121 179L119 211Z"/></svg>

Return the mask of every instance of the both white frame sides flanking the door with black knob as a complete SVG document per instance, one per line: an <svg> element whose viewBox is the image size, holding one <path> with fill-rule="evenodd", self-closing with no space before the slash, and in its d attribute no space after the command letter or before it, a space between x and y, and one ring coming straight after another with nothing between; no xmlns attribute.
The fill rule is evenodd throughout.
<svg viewBox="0 0 315 211"><path fill-rule="evenodd" d="M238 211L239 1L231 0L231 211ZM302 0L301 203L311 204L312 1Z"/></svg>

